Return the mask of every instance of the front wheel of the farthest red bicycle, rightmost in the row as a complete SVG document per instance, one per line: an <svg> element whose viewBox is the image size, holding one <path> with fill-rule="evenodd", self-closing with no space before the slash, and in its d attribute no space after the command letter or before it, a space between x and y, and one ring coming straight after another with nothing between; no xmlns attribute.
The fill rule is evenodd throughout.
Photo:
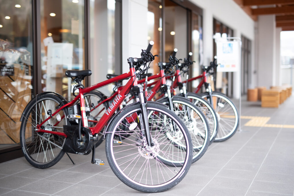
<svg viewBox="0 0 294 196"><path fill-rule="evenodd" d="M209 101L209 93L201 96ZM212 92L212 106L218 116L218 134L215 142L222 142L231 138L239 126L239 115L234 103L220 92Z"/></svg>

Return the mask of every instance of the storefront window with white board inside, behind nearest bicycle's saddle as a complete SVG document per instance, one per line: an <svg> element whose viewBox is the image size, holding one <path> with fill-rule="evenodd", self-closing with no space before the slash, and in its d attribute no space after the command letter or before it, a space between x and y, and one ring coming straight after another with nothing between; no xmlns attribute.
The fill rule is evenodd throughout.
<svg viewBox="0 0 294 196"><path fill-rule="evenodd" d="M84 2L41 0L42 91L73 98L66 70L85 69Z"/></svg>

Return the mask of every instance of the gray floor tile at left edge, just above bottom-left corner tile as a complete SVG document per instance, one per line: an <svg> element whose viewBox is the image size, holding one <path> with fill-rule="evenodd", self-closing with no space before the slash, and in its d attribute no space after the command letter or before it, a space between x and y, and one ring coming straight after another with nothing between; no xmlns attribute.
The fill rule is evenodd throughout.
<svg viewBox="0 0 294 196"><path fill-rule="evenodd" d="M28 185L32 182L36 182L37 180L38 179L27 177L7 176L0 179L0 187L18 189L19 187Z"/></svg>

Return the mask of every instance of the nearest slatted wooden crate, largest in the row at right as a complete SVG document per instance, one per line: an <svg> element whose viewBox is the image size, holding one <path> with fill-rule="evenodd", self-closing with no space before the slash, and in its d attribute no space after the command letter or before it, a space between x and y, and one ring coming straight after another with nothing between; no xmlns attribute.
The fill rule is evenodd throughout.
<svg viewBox="0 0 294 196"><path fill-rule="evenodd" d="M278 108L280 104L280 90L263 90L261 94L261 107Z"/></svg>

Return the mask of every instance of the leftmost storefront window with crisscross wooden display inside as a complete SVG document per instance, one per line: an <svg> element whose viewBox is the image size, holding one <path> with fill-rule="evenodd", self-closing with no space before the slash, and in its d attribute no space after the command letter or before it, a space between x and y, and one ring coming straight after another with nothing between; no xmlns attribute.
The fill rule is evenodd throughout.
<svg viewBox="0 0 294 196"><path fill-rule="evenodd" d="M0 1L0 149L19 144L33 91L31 0Z"/></svg>

